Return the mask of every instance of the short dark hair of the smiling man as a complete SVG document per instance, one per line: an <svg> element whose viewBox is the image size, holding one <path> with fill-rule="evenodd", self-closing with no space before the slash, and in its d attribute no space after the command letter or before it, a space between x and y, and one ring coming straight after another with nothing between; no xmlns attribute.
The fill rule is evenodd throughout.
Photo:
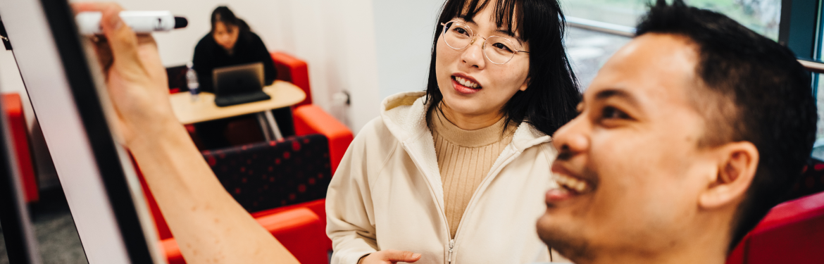
<svg viewBox="0 0 824 264"><path fill-rule="evenodd" d="M705 135L709 144L750 141L758 149L756 175L731 223L731 252L782 201L812 151L818 117L809 73L786 47L681 0L650 7L636 35L649 33L690 39L700 57L695 73L701 99L715 104L712 109L732 106L707 118L709 126L723 127Z"/></svg>

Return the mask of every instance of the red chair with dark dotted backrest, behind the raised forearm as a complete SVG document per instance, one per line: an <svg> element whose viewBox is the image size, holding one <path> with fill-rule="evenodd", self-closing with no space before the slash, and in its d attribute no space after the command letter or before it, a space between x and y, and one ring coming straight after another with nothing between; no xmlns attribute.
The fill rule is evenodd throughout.
<svg viewBox="0 0 824 264"><path fill-rule="evenodd" d="M327 263L325 191L331 178L324 135L290 137L216 151L204 158L218 180L301 263ZM141 178L143 181L143 178ZM170 263L185 263L157 202L142 182ZM287 206L282 206L287 205ZM266 208L268 210L260 211Z"/></svg>

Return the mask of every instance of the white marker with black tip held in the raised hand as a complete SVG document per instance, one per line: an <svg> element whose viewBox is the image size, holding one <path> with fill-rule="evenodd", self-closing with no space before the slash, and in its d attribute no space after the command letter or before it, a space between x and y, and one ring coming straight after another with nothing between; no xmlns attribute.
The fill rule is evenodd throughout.
<svg viewBox="0 0 824 264"><path fill-rule="evenodd" d="M75 16L77 28L81 35L100 35L101 12L80 12ZM186 27L189 21L185 17L174 16L168 11L123 11L120 18L129 25L135 33L152 33L154 31L169 31Z"/></svg>

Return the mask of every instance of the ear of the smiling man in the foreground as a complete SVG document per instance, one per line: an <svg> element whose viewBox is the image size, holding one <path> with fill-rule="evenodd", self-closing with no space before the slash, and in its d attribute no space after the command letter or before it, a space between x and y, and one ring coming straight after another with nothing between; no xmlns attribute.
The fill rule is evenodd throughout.
<svg viewBox="0 0 824 264"><path fill-rule="evenodd" d="M720 146L718 174L699 197L699 205L705 209L727 206L744 197L758 169L758 149L748 141L732 142Z"/></svg>

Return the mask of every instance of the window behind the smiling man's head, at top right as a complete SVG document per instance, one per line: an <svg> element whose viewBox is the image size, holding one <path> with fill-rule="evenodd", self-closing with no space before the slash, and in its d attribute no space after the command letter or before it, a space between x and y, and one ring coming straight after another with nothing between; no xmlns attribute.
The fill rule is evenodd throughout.
<svg viewBox="0 0 824 264"><path fill-rule="evenodd" d="M560 0L571 25L565 44L583 89L603 63L629 42L634 26L655 0ZM668 2L672 0L667 0ZM688 5L732 17L793 50L796 56L821 70L812 74L819 105L817 141L812 156L824 160L824 0L685 0Z"/></svg>

